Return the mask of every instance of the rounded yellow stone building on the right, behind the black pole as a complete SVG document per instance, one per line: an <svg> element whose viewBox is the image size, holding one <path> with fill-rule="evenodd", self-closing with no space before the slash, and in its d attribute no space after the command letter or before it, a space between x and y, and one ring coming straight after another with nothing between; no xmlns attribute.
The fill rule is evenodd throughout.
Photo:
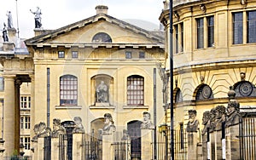
<svg viewBox="0 0 256 160"><path fill-rule="evenodd" d="M167 75L170 72L169 2L164 2L160 14L166 29ZM236 91L240 110L251 108L247 111L254 112L255 4L250 0L173 1L174 129L187 128L189 110L197 111L199 128L203 129L203 112L219 105L227 106L230 86ZM167 116L170 122L169 112Z"/></svg>

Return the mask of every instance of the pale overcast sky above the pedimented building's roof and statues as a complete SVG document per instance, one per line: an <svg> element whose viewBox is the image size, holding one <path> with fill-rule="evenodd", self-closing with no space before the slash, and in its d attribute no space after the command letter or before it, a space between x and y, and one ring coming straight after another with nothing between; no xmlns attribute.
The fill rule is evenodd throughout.
<svg viewBox="0 0 256 160"><path fill-rule="evenodd" d="M3 30L3 22L7 24L7 11L11 11L17 29L16 6L20 37L28 38L34 35L34 14L30 9L41 9L44 29L57 29L95 15L99 4L107 5L108 14L119 20L144 20L156 27L160 25L163 0L0 0L0 29Z"/></svg>

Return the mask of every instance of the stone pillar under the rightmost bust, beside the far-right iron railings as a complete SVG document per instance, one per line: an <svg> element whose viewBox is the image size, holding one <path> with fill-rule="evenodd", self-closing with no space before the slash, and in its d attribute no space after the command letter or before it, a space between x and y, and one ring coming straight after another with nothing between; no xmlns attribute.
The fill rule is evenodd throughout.
<svg viewBox="0 0 256 160"><path fill-rule="evenodd" d="M239 124L226 128L226 160L240 159Z"/></svg>

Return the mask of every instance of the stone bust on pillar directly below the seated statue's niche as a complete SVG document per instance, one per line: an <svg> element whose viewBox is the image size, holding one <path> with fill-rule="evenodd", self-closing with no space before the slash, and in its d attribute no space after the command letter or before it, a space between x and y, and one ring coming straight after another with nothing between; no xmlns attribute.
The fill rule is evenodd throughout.
<svg viewBox="0 0 256 160"><path fill-rule="evenodd" d="M104 114L104 127L102 129L102 134L113 134L115 132L116 128L113 125L113 117L110 113Z"/></svg>

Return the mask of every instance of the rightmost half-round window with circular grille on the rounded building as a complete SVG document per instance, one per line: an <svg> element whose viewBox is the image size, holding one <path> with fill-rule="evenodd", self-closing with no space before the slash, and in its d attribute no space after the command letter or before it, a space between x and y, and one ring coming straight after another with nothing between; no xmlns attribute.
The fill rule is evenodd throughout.
<svg viewBox="0 0 256 160"><path fill-rule="evenodd" d="M256 89L253 83L241 81L234 85L236 97L252 97L256 96Z"/></svg>

